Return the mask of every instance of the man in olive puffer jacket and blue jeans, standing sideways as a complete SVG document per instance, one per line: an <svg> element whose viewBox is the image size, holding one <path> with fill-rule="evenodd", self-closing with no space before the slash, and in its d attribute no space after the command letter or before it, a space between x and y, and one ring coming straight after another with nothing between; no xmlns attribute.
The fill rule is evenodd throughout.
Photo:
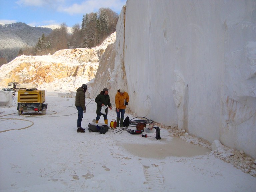
<svg viewBox="0 0 256 192"><path fill-rule="evenodd" d="M76 102L75 106L78 110L78 117L77 117L77 132L84 133L85 130L81 127L82 119L84 117L83 113L86 112L86 106L85 106L85 92L87 90L87 85L83 84L81 87L79 87L76 91Z"/></svg>

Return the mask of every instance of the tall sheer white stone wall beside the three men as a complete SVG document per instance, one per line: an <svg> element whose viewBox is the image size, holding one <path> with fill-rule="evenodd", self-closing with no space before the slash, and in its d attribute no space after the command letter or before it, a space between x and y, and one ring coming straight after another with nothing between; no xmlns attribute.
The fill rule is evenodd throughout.
<svg viewBox="0 0 256 192"><path fill-rule="evenodd" d="M138 116L256 158L256 1L128 0L116 27Z"/></svg>

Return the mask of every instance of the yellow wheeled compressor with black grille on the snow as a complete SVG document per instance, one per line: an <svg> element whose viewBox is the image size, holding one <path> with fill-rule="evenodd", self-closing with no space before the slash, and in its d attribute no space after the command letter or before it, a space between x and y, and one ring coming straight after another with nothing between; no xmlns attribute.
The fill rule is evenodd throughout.
<svg viewBox="0 0 256 192"><path fill-rule="evenodd" d="M39 112L46 114L47 103L45 103L45 90L21 89L18 91L18 114L23 112Z"/></svg>

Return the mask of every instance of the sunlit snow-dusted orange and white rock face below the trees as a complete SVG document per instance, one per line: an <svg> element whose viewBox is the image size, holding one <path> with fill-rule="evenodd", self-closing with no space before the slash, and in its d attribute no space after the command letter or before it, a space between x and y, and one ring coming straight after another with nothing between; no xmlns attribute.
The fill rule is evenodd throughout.
<svg viewBox="0 0 256 192"><path fill-rule="evenodd" d="M107 46L115 42L111 34L98 47L91 49L64 49L53 55L16 57L0 68L0 86L8 82L33 83L38 88L51 86L54 90L76 91L84 83L94 79Z"/></svg>

